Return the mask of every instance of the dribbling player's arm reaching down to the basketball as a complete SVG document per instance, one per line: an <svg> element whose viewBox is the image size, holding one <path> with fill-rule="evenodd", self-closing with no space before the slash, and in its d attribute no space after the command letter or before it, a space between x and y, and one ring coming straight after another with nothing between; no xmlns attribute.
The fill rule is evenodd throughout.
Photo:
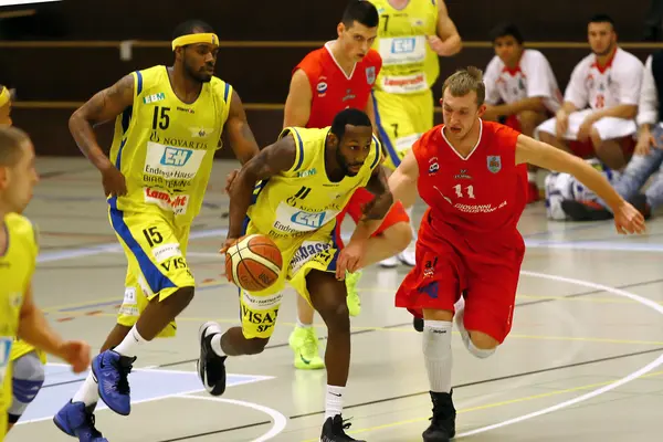
<svg viewBox="0 0 663 442"><path fill-rule="evenodd" d="M291 134L262 149L240 169L230 187L230 215L227 246L242 235L244 218L251 206L255 183L281 171L290 170L295 164L296 146ZM222 249L223 251L223 249Z"/></svg>

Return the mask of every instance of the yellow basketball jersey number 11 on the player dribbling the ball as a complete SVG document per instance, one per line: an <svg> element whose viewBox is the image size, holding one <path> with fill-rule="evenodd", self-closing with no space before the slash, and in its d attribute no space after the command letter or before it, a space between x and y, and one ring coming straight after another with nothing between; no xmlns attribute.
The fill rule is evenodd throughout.
<svg viewBox="0 0 663 442"><path fill-rule="evenodd" d="M257 231L273 239L296 238L323 229L332 232L336 215L355 190L366 186L380 162L380 143L373 136L370 154L359 173L333 182L325 168L325 140L329 129L283 129L280 138L295 139L295 164L259 185L255 203L248 213Z"/></svg>

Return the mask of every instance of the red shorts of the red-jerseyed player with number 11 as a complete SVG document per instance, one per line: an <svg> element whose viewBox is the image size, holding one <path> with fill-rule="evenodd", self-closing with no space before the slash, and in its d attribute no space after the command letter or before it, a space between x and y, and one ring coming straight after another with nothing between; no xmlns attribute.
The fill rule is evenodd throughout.
<svg viewBox="0 0 663 442"><path fill-rule="evenodd" d="M396 306L423 317L423 309L454 312L463 295L465 328L502 344L512 328L524 245L505 246L501 256L484 260L441 238L431 239L428 230L419 231L417 265L396 293Z"/></svg>

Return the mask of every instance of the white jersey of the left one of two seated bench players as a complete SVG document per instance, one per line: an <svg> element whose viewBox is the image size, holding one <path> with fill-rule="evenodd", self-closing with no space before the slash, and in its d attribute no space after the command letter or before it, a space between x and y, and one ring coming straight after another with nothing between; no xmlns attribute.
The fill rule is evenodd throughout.
<svg viewBox="0 0 663 442"><path fill-rule="evenodd" d="M561 106L561 92L548 59L539 51L523 51L518 66L508 69L495 55L484 75L486 103L496 105L519 102L525 98L543 97L546 108L555 114Z"/></svg>

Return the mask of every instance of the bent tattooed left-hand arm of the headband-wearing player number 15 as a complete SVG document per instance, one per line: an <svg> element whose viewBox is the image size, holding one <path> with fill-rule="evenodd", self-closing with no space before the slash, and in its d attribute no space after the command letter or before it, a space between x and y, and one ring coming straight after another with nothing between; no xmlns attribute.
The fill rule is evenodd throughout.
<svg viewBox="0 0 663 442"><path fill-rule="evenodd" d="M102 173L114 166L99 147L93 127L114 119L133 104L134 75L129 74L96 93L70 118L70 131L78 149Z"/></svg>

